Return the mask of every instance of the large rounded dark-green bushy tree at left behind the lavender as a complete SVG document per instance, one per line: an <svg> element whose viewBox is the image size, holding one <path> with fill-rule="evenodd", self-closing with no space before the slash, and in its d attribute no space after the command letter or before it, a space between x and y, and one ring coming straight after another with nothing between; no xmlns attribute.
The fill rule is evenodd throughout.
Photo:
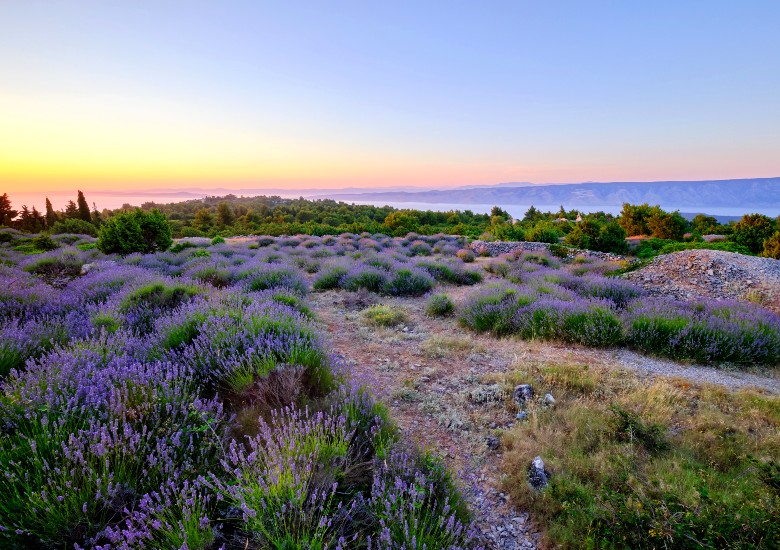
<svg viewBox="0 0 780 550"><path fill-rule="evenodd" d="M140 208L117 214L103 222L97 247L106 254L150 253L171 246L171 226L157 209L144 212Z"/></svg>

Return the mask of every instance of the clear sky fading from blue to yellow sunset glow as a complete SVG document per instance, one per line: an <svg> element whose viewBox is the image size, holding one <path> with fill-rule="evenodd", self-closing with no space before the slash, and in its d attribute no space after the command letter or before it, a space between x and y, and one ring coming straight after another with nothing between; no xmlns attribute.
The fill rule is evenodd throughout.
<svg viewBox="0 0 780 550"><path fill-rule="evenodd" d="M780 2L0 3L0 192L780 176Z"/></svg>

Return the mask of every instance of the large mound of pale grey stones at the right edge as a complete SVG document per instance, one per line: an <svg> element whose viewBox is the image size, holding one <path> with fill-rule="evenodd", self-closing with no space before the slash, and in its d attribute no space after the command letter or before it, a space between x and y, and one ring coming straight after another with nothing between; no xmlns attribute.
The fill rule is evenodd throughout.
<svg viewBox="0 0 780 550"><path fill-rule="evenodd" d="M655 296L758 303L780 312L780 261L722 250L684 250L656 256L626 279Z"/></svg>

